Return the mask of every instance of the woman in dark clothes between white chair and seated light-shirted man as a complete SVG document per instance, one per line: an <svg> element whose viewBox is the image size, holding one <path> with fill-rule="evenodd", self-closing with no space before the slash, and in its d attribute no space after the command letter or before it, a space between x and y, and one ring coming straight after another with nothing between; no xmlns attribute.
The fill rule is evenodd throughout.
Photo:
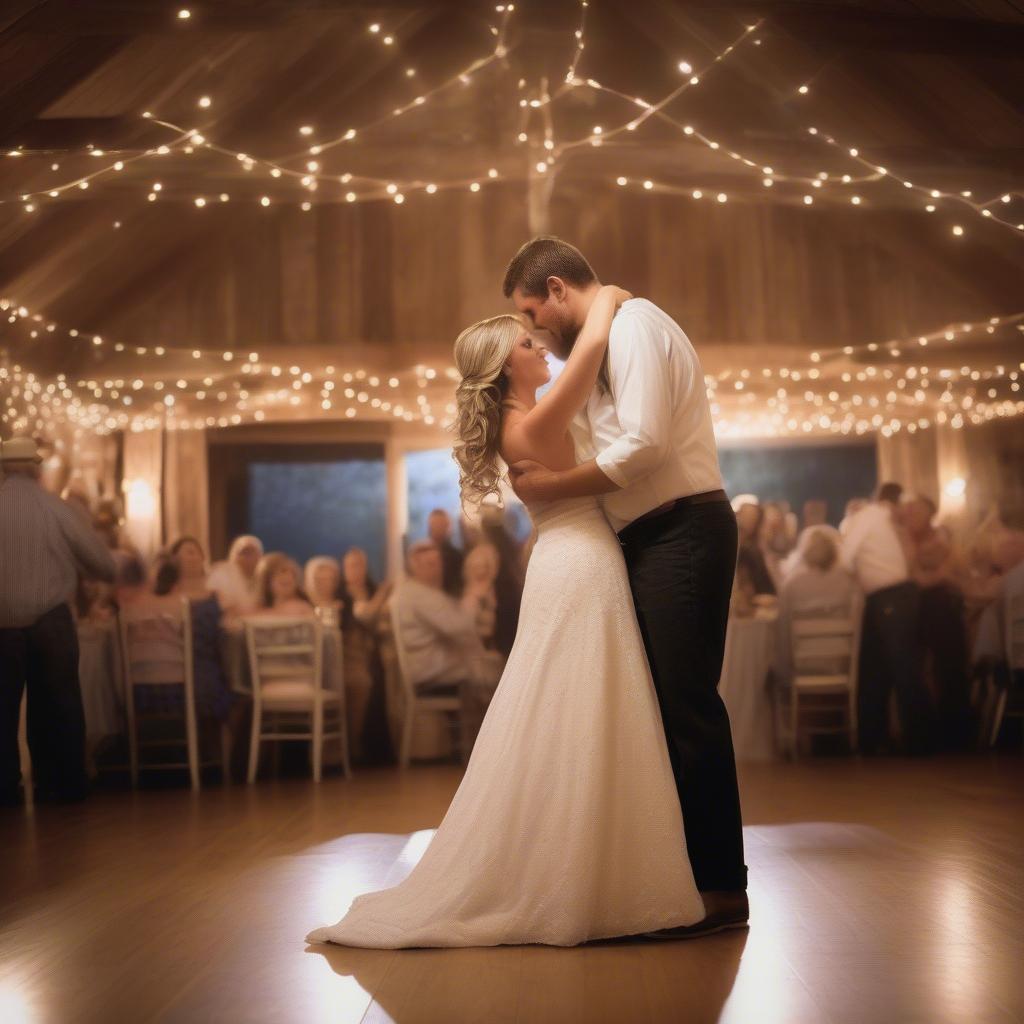
<svg viewBox="0 0 1024 1024"><path fill-rule="evenodd" d="M391 584L378 587L370 575L367 553L361 548L349 548L342 559L337 593L341 605L349 749L357 761L390 761L391 733L380 641Z"/></svg>

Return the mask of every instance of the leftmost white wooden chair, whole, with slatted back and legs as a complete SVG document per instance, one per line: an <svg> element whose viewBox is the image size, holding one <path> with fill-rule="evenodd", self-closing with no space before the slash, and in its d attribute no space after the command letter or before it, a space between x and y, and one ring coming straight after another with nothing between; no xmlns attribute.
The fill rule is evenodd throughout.
<svg viewBox="0 0 1024 1024"><path fill-rule="evenodd" d="M200 768L219 764L224 780L228 778L228 752L225 730L220 731L220 757L217 760L200 759L199 729L196 722L196 676L193 649L191 607L182 598L173 611L155 612L153 608L134 608L128 605L118 615L118 635L121 642L121 664L125 681L125 712L128 719L128 755L131 784L138 785L139 768L158 770L188 769L191 787L200 785ZM140 763L142 748L180 746L181 739L139 737L140 721L180 721L175 713L146 712L140 714L135 707L135 687L182 687L184 691L184 740L187 752L184 761L159 761Z"/></svg>

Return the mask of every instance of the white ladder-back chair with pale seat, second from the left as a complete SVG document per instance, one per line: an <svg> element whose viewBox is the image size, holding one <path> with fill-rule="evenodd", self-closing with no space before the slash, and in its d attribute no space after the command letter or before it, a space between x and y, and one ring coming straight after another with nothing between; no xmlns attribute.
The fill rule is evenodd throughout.
<svg viewBox="0 0 1024 1024"><path fill-rule="evenodd" d="M256 781L260 744L286 739L310 741L314 782L323 774L324 741L337 739L342 769L351 778L344 693L324 687L323 624L312 617L250 618L245 627L253 684L249 781Z"/></svg>

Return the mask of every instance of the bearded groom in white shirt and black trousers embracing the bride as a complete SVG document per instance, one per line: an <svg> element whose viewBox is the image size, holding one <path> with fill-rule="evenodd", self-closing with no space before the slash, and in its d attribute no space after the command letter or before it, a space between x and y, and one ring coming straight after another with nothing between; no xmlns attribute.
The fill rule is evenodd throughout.
<svg viewBox="0 0 1024 1024"><path fill-rule="evenodd" d="M527 242L504 292L568 356L600 284L556 238ZM598 385L573 428L594 456L553 472L511 467L523 501L603 495L626 556L650 662L686 846L707 916L657 937L746 924L746 867L732 734L718 693L736 564L736 520L722 489L703 373L689 339L646 299L623 304Z"/></svg>

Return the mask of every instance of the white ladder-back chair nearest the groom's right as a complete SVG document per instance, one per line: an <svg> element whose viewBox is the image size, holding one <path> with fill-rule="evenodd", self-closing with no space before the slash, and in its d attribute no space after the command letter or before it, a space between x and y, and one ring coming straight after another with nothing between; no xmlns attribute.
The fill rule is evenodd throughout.
<svg viewBox="0 0 1024 1024"><path fill-rule="evenodd" d="M791 630L793 680L787 688L784 738L796 758L802 734L846 733L857 749L857 662L860 648L856 618L796 618ZM845 697L840 701L820 697ZM808 712L833 721L808 721ZM840 721L834 720L839 717Z"/></svg>

